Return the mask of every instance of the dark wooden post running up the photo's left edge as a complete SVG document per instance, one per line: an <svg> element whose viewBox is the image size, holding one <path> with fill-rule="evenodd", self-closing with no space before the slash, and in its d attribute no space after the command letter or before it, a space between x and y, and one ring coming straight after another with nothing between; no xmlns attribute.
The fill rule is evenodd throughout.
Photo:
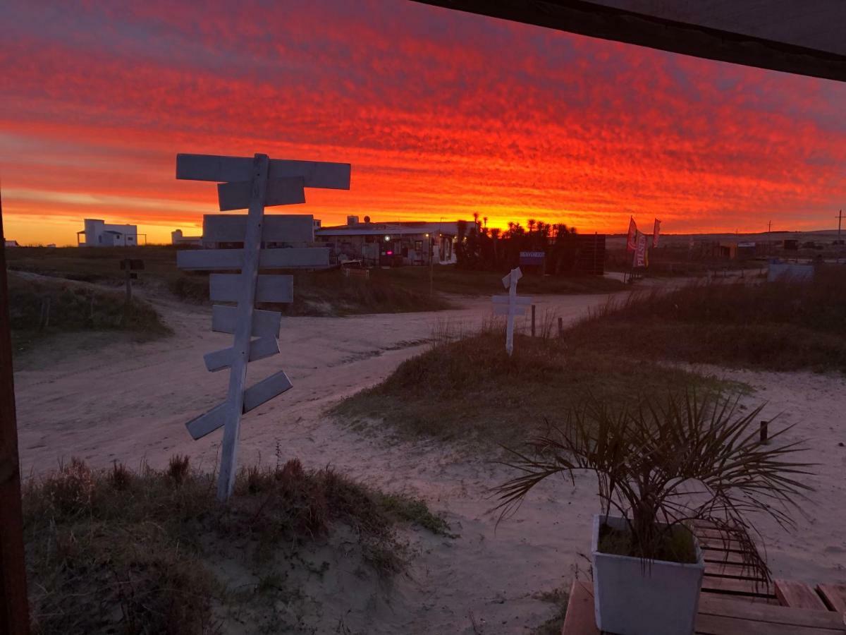
<svg viewBox="0 0 846 635"><path fill-rule="evenodd" d="M4 238L2 203L0 238ZM30 607L26 595L24 519L20 505L18 427L14 416L5 251L5 246L0 248L0 632L27 635L30 632Z"/></svg>

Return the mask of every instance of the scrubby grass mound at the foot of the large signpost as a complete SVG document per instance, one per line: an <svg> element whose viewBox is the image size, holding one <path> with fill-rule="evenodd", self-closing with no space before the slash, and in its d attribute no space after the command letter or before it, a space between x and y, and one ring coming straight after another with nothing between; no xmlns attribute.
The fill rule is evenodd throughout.
<svg viewBox="0 0 846 635"><path fill-rule="evenodd" d="M305 566L299 549L343 525L379 575L402 570L398 521L448 527L421 501L382 494L299 461L243 470L229 505L213 475L175 456L162 471L72 460L25 485L25 542L34 632L212 633L227 616ZM280 568L280 555L283 566ZM243 561L259 583L227 588L209 567ZM271 563L276 563L275 565ZM275 568L274 568L275 566Z"/></svg>

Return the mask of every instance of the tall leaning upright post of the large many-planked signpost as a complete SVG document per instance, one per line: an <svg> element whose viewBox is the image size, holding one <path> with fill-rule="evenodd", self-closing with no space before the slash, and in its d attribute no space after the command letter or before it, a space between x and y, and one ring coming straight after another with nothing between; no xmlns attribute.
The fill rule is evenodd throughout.
<svg viewBox="0 0 846 635"><path fill-rule="evenodd" d="M238 460L238 437L241 414L244 411L244 382L247 362L250 361L250 334L253 324L255 284L259 274L261 248L261 221L264 216L267 173L270 159L266 154L256 154L250 189L250 208L247 213L247 231L244 236L244 267L241 269L241 296L238 301L238 320L235 326L232 366L229 371L229 392L226 400L226 422L223 428L223 445L220 459L220 478L217 481L217 498L227 500L235 484L235 465Z"/></svg>

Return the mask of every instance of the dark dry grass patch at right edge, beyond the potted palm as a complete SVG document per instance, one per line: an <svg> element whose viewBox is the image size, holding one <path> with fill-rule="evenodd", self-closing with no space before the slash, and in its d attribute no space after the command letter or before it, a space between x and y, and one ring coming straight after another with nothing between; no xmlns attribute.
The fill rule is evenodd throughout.
<svg viewBox="0 0 846 635"><path fill-rule="evenodd" d="M846 270L812 283L691 284L631 295L576 325L602 354L789 371L846 371Z"/></svg>

